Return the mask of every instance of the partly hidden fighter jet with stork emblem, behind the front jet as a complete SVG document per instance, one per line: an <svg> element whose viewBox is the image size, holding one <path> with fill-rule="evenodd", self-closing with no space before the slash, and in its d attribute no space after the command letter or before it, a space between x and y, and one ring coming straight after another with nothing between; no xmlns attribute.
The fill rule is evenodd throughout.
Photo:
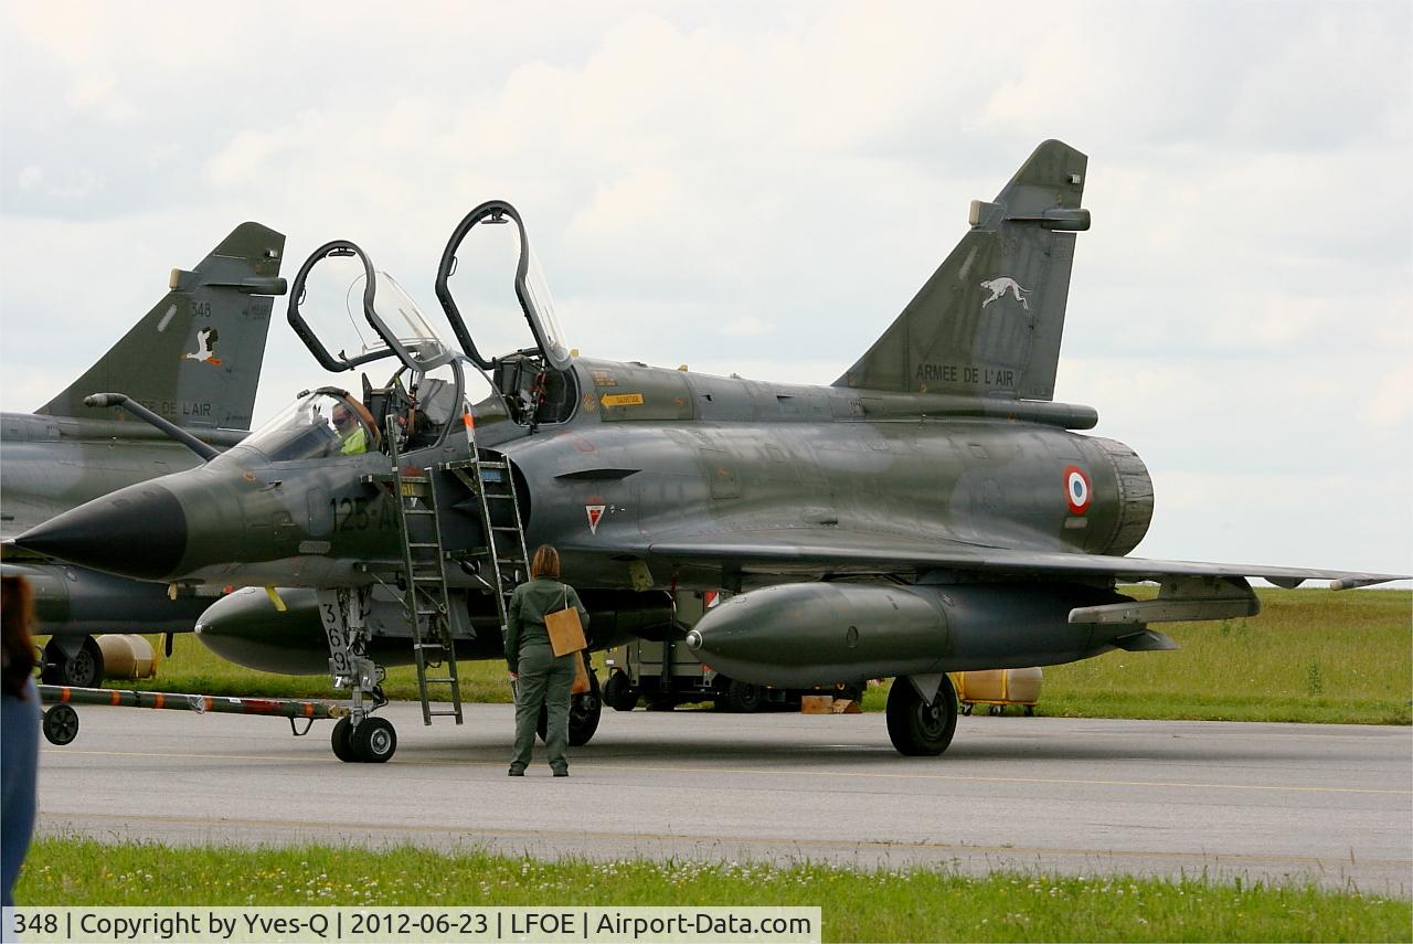
<svg viewBox="0 0 1413 944"><path fill-rule="evenodd" d="M44 680L96 685L103 654L93 633L189 632L211 596L168 599L167 586L25 554L10 538L93 497L199 465L250 428L284 236L242 223L194 270L172 270L170 291L62 393L32 414L0 414L0 537L6 575L34 586ZM187 431L185 444L133 421L147 408ZM192 438L195 437L195 438ZM194 451L195 449L195 451Z"/></svg>

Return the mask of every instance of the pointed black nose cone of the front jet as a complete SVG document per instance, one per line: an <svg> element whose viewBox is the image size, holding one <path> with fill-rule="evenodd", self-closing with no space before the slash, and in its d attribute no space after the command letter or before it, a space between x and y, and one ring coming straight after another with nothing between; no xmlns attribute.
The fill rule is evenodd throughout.
<svg viewBox="0 0 1413 944"><path fill-rule="evenodd" d="M187 513L161 485L93 499L14 538L20 547L97 571L155 581L187 553Z"/></svg>

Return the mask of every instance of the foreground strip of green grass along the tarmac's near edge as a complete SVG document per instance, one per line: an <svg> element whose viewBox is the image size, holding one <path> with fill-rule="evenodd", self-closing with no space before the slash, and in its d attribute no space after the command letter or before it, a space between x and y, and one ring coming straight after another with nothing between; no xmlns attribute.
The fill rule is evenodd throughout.
<svg viewBox="0 0 1413 944"><path fill-rule="evenodd" d="M42 906L821 906L825 941L1407 941L1413 906L1313 886L699 862L537 862L478 851L168 848L47 838L16 899Z"/></svg>

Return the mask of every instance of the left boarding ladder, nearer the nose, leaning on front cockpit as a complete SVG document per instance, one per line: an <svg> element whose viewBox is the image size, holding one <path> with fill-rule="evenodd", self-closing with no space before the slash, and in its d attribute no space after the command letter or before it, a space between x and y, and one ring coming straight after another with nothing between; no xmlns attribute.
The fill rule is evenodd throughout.
<svg viewBox="0 0 1413 944"><path fill-rule="evenodd" d="M396 430L389 417L384 430ZM461 716L461 677L456 674L456 646L451 632L451 599L447 592L447 553L442 548L437 514L437 489L431 469L407 475L397 449L397 437L387 437L393 459L397 533L403 544L403 610L413 627L413 659L417 664L417 694L422 700L422 724L432 718ZM432 673L437 674L432 674ZM432 695L445 694L451 708L432 708Z"/></svg>

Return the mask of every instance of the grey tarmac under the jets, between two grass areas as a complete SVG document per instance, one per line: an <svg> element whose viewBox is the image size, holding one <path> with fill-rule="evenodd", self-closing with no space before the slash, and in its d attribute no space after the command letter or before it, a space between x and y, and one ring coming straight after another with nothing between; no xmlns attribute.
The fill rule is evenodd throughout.
<svg viewBox="0 0 1413 944"><path fill-rule="evenodd" d="M605 709L571 776L506 776L512 708L397 725L345 765L331 722L79 707L44 745L40 828L170 844L332 842L533 856L827 861L1314 880L1413 893L1413 729L961 718L901 757L882 714ZM447 719L438 719L447 721Z"/></svg>

